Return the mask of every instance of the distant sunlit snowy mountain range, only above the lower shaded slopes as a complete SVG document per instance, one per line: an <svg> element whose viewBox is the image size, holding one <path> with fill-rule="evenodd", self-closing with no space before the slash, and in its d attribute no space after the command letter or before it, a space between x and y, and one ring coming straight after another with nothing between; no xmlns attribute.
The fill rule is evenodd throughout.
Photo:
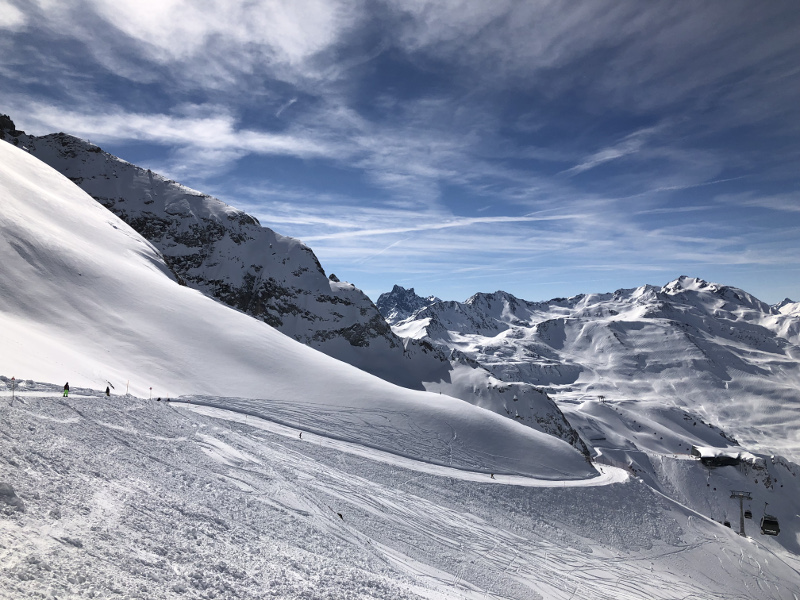
<svg viewBox="0 0 800 600"><path fill-rule="evenodd" d="M672 406L797 461L800 319L788 306L681 277L549 302L476 294L423 308L394 331L462 352L500 380L542 386L562 408L600 397Z"/></svg>

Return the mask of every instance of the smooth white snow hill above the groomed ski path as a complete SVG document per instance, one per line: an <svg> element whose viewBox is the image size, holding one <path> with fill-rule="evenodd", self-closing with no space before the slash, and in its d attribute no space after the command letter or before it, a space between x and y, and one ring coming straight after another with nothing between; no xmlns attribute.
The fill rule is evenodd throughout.
<svg viewBox="0 0 800 600"><path fill-rule="evenodd" d="M437 464L595 474L561 440L446 395L387 383L179 285L131 227L5 143L0 197L5 377L95 389L109 382L116 394L130 385L137 395L259 399L275 418L345 439L342 422L356 419L383 432L385 450L424 452Z"/></svg>

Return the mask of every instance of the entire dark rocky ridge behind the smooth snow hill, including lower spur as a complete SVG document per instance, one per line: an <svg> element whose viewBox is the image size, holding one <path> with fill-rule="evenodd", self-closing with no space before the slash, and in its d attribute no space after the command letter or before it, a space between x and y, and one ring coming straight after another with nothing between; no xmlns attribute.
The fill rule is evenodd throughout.
<svg viewBox="0 0 800 600"><path fill-rule="evenodd" d="M391 383L467 400L585 451L546 394L520 382L508 394L509 386L480 365L427 343L401 340L361 290L326 277L300 241L73 136L29 136L8 118L0 122L0 136L70 178L131 225L188 287Z"/></svg>

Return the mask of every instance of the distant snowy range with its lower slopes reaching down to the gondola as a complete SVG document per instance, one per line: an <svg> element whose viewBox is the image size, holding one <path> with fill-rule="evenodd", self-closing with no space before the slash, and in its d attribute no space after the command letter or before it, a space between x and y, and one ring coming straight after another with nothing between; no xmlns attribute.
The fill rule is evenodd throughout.
<svg viewBox="0 0 800 600"><path fill-rule="evenodd" d="M546 386L595 460L709 518L736 524L730 493L747 491L751 506L793 528L782 542L798 552L800 321L786 306L681 277L539 303L476 294L419 309L394 330L501 380ZM706 468L693 447L738 464Z"/></svg>

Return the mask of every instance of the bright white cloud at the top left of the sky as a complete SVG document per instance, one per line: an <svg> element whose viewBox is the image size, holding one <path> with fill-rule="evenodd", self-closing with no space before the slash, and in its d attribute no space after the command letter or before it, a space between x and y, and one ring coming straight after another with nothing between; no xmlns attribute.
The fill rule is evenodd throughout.
<svg viewBox="0 0 800 600"><path fill-rule="evenodd" d="M16 6L37 27L84 44L114 72L147 80L137 63L156 64L170 69L173 85L196 88L220 88L258 72L296 82L323 77L325 61L317 64L315 57L364 16L360 2L343 0L31 0Z"/></svg>

